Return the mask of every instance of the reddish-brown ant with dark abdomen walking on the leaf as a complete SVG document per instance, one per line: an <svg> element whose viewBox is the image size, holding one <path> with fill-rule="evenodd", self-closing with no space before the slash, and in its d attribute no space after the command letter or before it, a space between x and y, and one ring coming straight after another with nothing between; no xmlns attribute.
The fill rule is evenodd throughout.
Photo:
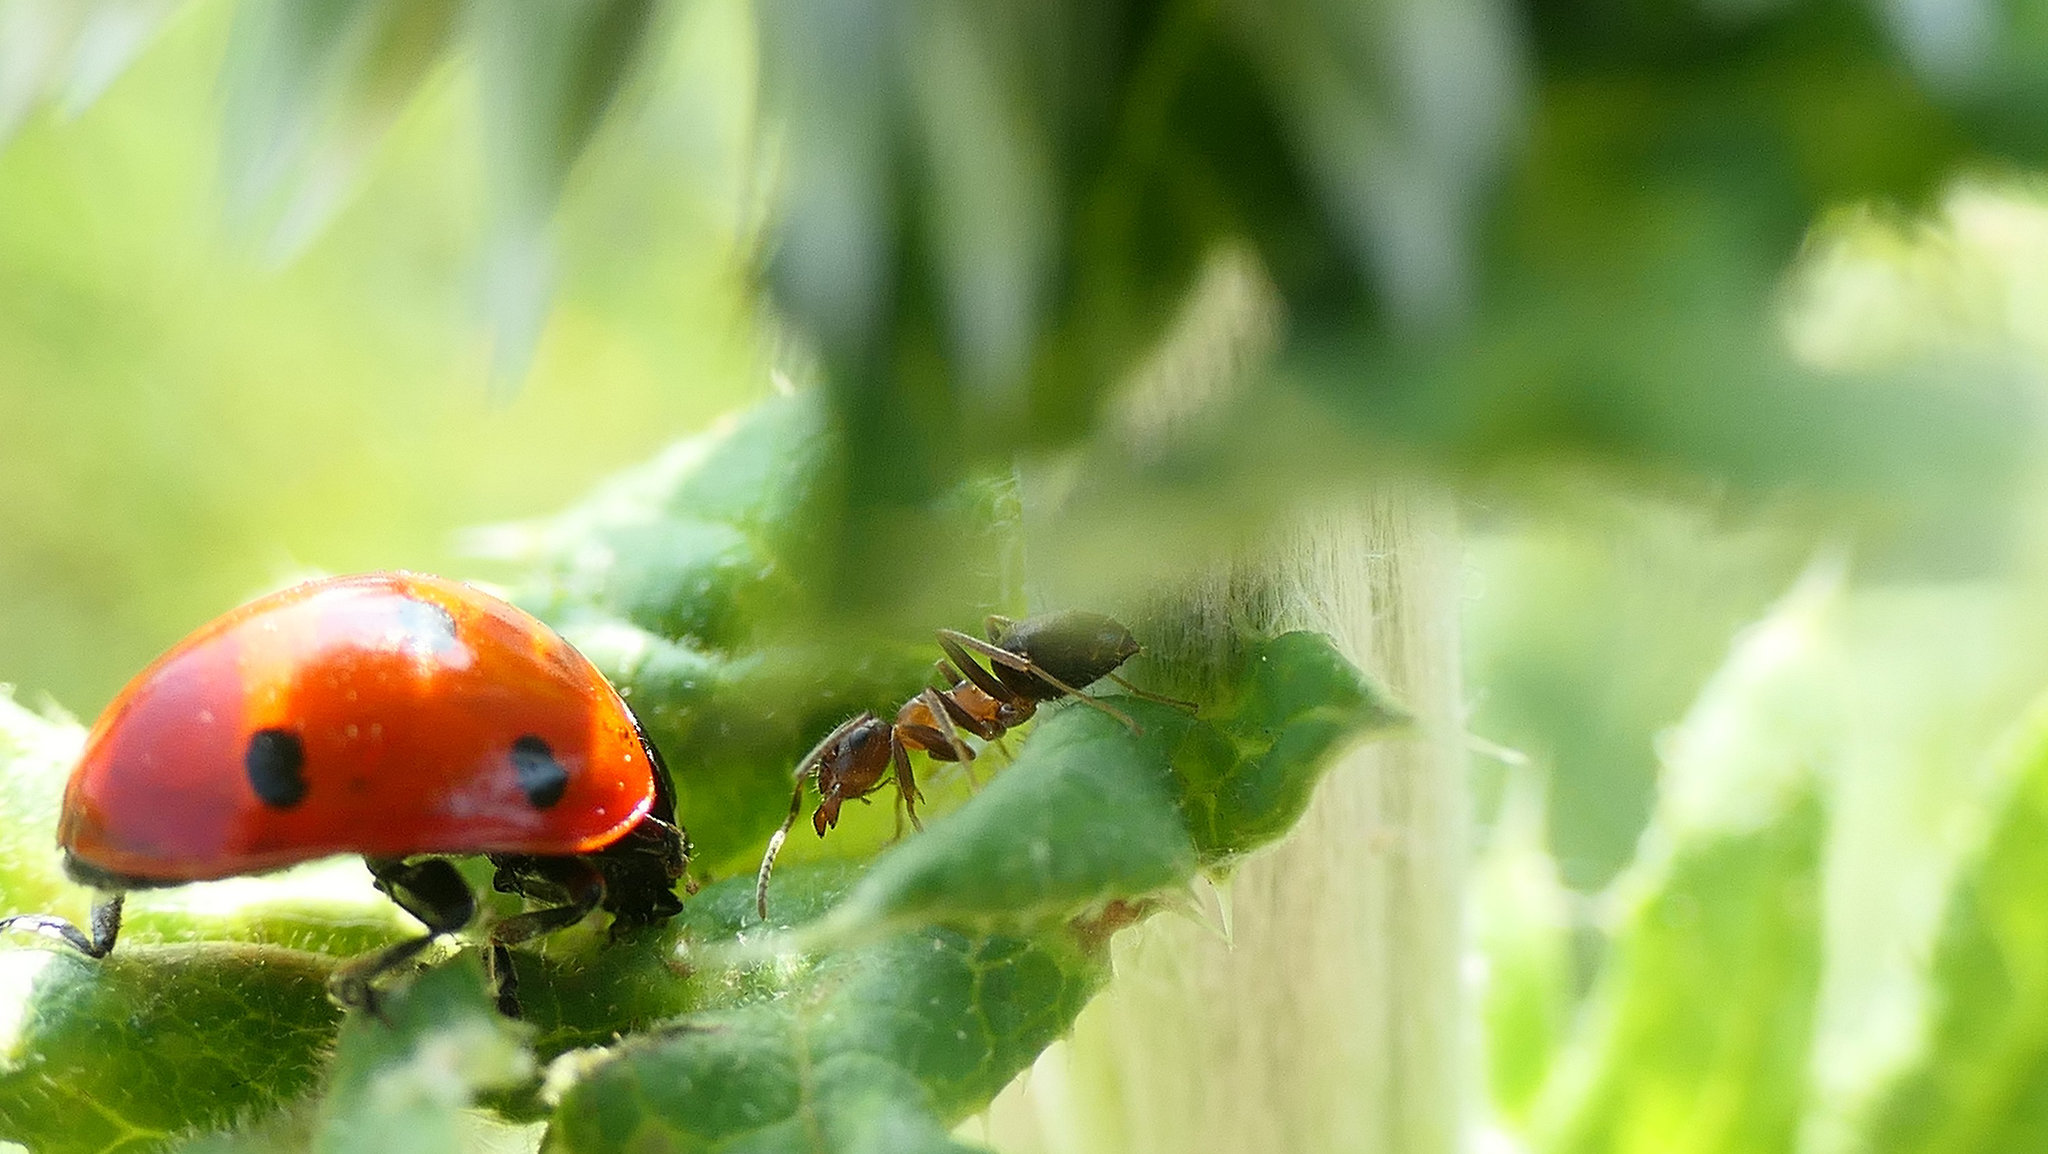
<svg viewBox="0 0 2048 1154"><path fill-rule="evenodd" d="M1128 713L1081 693L1102 678L1114 681L1133 697L1194 709L1188 701L1147 693L1116 674L1141 646L1130 629L1102 613L1067 609L1024 621L989 615L985 629L987 642L958 629L938 631L938 648L946 652L938 670L952 683L948 689L926 687L897 709L895 722L883 722L872 711L860 713L803 754L797 763L797 789L788 795L788 818L768 838L768 853L762 855L762 871L754 885L754 908L762 920L768 920L768 873L782 853L788 830L803 814L805 781L817 783L819 803L811 814L811 828L817 836L825 836L825 830L840 824L840 806L852 799L864 801L891 779L893 767L901 814L909 816L911 828L924 830L924 822L918 820L922 795L909 769L909 750L924 750L932 760L961 763L973 783L969 763L975 760L975 750L961 740L961 730L985 742L999 742L1006 732L1030 722L1040 705L1061 697L1085 701L1133 734L1143 734L1145 730ZM977 654L987 660L987 668L975 660Z"/></svg>

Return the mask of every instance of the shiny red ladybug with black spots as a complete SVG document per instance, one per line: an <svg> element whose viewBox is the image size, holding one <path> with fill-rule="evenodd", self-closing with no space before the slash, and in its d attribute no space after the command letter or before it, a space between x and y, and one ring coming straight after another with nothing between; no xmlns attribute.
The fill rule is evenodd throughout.
<svg viewBox="0 0 2048 1154"><path fill-rule="evenodd" d="M487 931L498 1002L508 947L602 908L612 933L682 910L690 840L662 754L604 676L524 611L410 572L313 580L215 619L106 707L63 791L63 869L100 892L90 926L18 914L104 957L129 890L360 853L426 935L342 963L344 1006L475 894L449 857L485 855L537 908Z"/></svg>

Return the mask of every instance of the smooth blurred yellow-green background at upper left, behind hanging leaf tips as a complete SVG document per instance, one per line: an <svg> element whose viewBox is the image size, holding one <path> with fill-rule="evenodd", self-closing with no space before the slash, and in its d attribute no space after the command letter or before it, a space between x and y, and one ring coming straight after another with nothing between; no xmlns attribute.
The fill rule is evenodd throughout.
<svg viewBox="0 0 2048 1154"><path fill-rule="evenodd" d="M16 35L37 10L70 18L14 4ZM516 387L492 373L473 76L432 70L342 176L354 195L276 258L221 193L233 16L178 6L102 98L37 107L0 148L0 681L88 719L252 592L475 570L459 527L551 512L768 379L743 8L678 20L637 115L594 141Z"/></svg>

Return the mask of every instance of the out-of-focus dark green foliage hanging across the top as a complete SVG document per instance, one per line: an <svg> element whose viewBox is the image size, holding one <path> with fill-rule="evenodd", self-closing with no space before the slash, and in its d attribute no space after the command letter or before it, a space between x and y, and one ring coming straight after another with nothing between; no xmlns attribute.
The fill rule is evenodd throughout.
<svg viewBox="0 0 2048 1154"><path fill-rule="evenodd" d="M680 16L651 0L236 14L233 199L293 232L285 248L436 64L473 61L494 205L475 242L516 377L551 297L551 215L608 113L641 111L623 96ZM1204 512L1227 494L1260 517L1329 476L1528 482L1569 463L1819 492L1917 541L2017 463L2021 400L1997 359L1823 381L1776 318L1829 205L2042 156L2044 96L2021 80L2042 37L2017 10L1950 39L1853 0L750 14L776 148L737 174L735 209L752 234L768 203L766 285L844 437L846 510L821 531L850 605L905 586L891 566L922 527L903 521L934 494L1020 445L1085 439L1225 250L1288 324L1223 406L1227 445L1114 461L1126 502ZM741 119L719 131L760 133Z"/></svg>

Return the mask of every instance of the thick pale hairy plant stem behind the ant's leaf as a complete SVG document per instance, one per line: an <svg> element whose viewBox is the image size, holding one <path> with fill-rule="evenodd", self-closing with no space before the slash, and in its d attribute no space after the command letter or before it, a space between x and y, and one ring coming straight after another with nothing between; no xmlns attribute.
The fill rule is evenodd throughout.
<svg viewBox="0 0 2048 1154"><path fill-rule="evenodd" d="M1419 730L1352 752L1294 832L1239 865L1219 892L1229 937L1171 916L1120 935L1110 988L991 1111L987 1136L1008 1154L1458 1150L1454 517L1436 494L1389 494L1280 537L1186 599L1184 650L1202 623L1327 631Z"/></svg>

